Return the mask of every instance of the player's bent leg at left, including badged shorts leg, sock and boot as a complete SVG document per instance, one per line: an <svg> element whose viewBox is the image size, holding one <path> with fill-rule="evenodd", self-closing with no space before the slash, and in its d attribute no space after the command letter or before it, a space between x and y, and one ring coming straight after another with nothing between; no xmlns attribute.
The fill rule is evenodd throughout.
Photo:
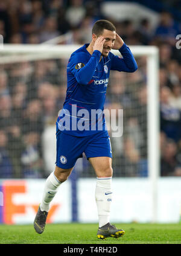
<svg viewBox="0 0 181 256"><path fill-rule="evenodd" d="M56 169L46 179L42 202L34 219L34 229L42 234L45 229L49 204L56 195L62 182L68 179L77 159L82 156L81 139L66 135L57 130L57 161Z"/></svg>

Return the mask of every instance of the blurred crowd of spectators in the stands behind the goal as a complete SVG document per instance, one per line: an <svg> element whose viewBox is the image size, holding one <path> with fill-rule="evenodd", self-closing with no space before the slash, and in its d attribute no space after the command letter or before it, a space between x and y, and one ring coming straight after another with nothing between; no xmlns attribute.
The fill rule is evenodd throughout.
<svg viewBox="0 0 181 256"><path fill-rule="evenodd" d="M5 43L30 44L66 34L60 43L82 45L90 42L95 21L109 19L127 45L158 46L160 175L181 176L181 50L176 48L180 24L162 11L156 28L146 18L135 27L131 20L105 16L101 2L1 1L0 34ZM111 138L115 176L148 174L147 60L136 61L139 69L133 74L112 71L107 88L105 107L124 110L124 134ZM54 153L51 127L66 94L66 63L56 59L0 65L0 178L45 178L52 171L51 165L47 168ZM89 169L87 161L83 165Z"/></svg>

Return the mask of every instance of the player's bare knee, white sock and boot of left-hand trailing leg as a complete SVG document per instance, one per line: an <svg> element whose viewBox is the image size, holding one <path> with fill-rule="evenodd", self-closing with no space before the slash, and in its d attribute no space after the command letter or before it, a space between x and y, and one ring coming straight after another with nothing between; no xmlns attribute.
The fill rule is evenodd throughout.
<svg viewBox="0 0 181 256"><path fill-rule="evenodd" d="M34 219L34 229L37 233L42 234L45 229L46 218L48 216L49 204L56 195L59 186L68 179L73 168L63 169L56 166L56 170L52 172L45 182L43 190L42 202L40 203L36 217Z"/></svg>

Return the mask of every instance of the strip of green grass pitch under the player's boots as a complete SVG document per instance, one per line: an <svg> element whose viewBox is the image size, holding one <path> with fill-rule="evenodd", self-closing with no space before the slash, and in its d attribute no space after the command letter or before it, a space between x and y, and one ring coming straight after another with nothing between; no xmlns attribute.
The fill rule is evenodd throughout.
<svg viewBox="0 0 181 256"><path fill-rule="evenodd" d="M119 238L98 240L97 224L47 224L43 234L37 234L33 225L0 225L1 244L180 244L181 225L122 223L125 230Z"/></svg>

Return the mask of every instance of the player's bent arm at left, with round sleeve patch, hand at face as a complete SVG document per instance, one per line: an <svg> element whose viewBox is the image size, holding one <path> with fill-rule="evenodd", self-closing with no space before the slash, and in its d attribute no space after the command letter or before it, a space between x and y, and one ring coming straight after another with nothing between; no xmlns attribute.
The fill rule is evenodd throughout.
<svg viewBox="0 0 181 256"><path fill-rule="evenodd" d="M100 61L104 41L103 37L98 37L95 41L92 56L87 63L84 63L86 62L84 53L74 53L72 55L69 63L69 71L72 72L77 82L81 85L87 85L92 79Z"/></svg>

